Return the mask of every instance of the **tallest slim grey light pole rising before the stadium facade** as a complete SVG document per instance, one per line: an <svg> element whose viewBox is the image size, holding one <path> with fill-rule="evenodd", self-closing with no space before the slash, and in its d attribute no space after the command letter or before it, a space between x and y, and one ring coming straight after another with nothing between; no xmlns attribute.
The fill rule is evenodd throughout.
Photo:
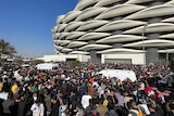
<svg viewBox="0 0 174 116"><path fill-rule="evenodd" d="M145 69L146 69L146 51L145 51L145 31L147 24L144 24L142 28L142 52L144 52L144 78L145 78Z"/></svg>

